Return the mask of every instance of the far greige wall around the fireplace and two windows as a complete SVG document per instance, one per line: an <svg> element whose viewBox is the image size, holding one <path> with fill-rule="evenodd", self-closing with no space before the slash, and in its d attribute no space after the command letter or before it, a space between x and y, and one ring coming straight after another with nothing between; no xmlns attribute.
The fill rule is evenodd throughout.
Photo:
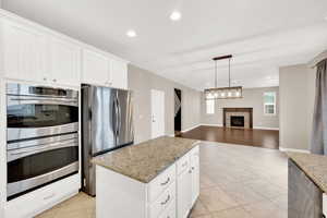
<svg viewBox="0 0 327 218"><path fill-rule="evenodd" d="M264 114L264 93L276 92L277 94L277 113L276 116ZM253 108L253 126L254 128L279 128L279 88L245 88L243 89L243 98L240 99L219 99L216 100L215 114L206 114L206 105L204 97L202 98L202 123L222 125L223 114L222 108Z"/></svg>

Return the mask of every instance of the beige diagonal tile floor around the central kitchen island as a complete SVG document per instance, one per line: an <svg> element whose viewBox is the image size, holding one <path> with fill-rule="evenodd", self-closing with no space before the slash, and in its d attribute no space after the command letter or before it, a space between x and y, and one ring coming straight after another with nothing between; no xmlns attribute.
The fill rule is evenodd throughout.
<svg viewBox="0 0 327 218"><path fill-rule="evenodd" d="M278 150L204 142L201 195L190 217L287 218L287 174ZM37 218L65 217L95 218L95 199L81 193Z"/></svg>

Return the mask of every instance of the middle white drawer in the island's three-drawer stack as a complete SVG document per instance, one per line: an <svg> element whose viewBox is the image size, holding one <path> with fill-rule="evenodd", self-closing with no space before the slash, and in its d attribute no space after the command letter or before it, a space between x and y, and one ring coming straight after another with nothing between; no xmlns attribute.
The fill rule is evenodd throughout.
<svg viewBox="0 0 327 218"><path fill-rule="evenodd" d="M171 183L169 187L149 207L149 217L157 218L171 204L175 204L175 183Z"/></svg>

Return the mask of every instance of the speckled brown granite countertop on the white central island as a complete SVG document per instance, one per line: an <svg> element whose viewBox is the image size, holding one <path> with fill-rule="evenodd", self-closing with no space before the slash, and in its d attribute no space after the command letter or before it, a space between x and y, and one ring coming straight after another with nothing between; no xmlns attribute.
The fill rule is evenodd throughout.
<svg viewBox="0 0 327 218"><path fill-rule="evenodd" d="M95 157L92 161L143 183L150 182L197 145L198 141L162 136Z"/></svg>

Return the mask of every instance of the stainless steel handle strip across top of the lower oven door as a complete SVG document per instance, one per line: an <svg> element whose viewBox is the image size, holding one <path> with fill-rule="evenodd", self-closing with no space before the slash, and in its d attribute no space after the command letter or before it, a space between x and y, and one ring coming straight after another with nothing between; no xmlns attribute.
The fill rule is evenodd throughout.
<svg viewBox="0 0 327 218"><path fill-rule="evenodd" d="M77 140L72 140L68 141L64 143L53 143L50 145L46 146L37 146L37 148L32 147L32 148L23 148L23 149L15 149L15 150L10 150L7 153L7 162L27 157L34 154L43 153L43 152L48 152L48 150L53 150L58 148L65 148L65 147L75 147L78 146ZM17 152L21 150L21 152Z"/></svg>

